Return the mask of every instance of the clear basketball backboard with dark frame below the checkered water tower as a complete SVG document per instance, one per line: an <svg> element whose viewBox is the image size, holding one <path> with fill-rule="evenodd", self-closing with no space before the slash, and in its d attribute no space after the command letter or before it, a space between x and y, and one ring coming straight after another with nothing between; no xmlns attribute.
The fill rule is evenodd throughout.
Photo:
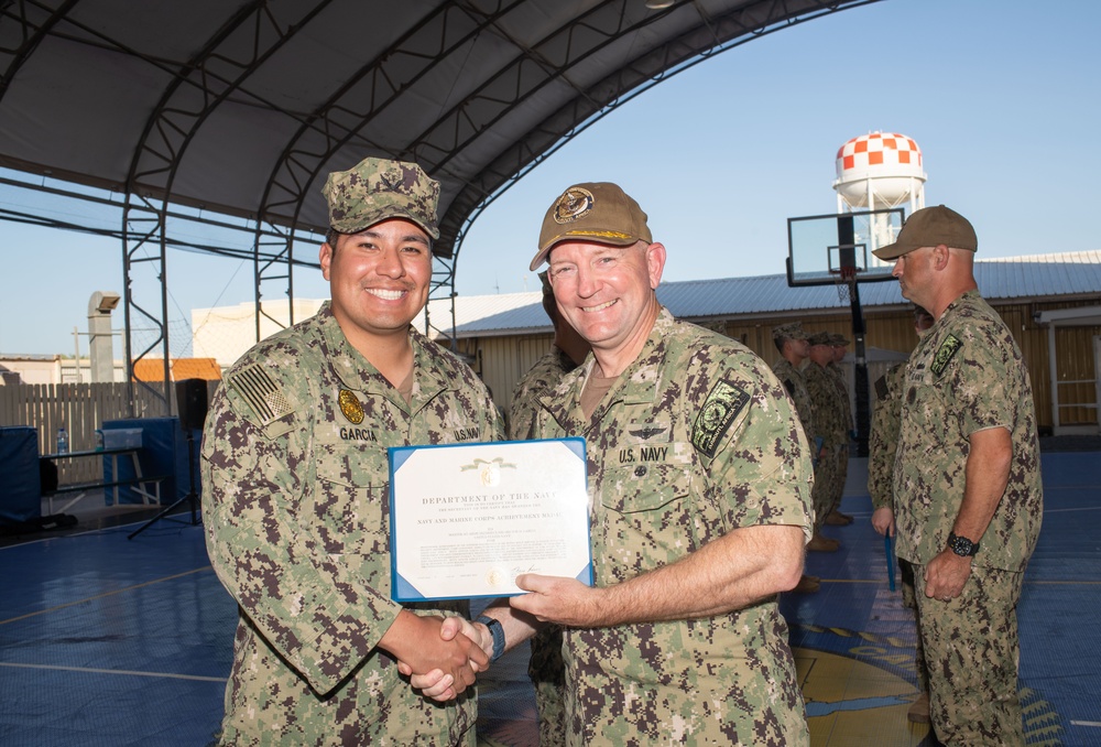
<svg viewBox="0 0 1101 747"><path fill-rule="evenodd" d="M894 242L903 218L901 207L788 218L787 284L831 285L849 268L857 282L892 280L894 262L872 250Z"/></svg>

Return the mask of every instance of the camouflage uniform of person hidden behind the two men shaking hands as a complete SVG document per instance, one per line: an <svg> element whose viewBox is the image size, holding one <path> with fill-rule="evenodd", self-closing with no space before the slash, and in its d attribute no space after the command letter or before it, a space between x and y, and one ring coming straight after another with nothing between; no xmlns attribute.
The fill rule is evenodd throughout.
<svg viewBox="0 0 1101 747"><path fill-rule="evenodd" d="M531 370L516 382L509 409L509 439L525 441L533 437L537 398L556 388L562 378L577 364L557 345L535 361ZM566 744L565 697L566 672L562 660L562 627L547 625L532 639L532 658L527 674L535 684L535 707L539 714L539 745L554 747Z"/></svg>

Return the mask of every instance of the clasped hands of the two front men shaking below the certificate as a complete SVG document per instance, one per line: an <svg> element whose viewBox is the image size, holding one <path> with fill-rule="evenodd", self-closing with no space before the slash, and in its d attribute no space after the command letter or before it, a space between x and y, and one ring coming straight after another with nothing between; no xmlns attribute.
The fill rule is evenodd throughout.
<svg viewBox="0 0 1101 747"><path fill-rule="evenodd" d="M462 618L421 617L403 609L379 641L381 648L397 659L400 672L425 681L432 679L429 689L438 696L425 694L439 701L458 696L473 684L477 672L489 667L486 651L459 632L459 624L448 620ZM467 620L462 622L470 625ZM421 688L416 683L413 686Z"/></svg>

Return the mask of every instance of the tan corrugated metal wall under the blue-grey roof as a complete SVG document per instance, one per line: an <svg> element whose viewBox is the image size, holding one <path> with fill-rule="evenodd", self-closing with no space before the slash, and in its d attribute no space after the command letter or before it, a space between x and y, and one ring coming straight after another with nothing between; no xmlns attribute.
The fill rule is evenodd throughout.
<svg viewBox="0 0 1101 747"><path fill-rule="evenodd" d="M1051 382L1048 372L1047 327L1034 321L1034 314L1054 308L1075 308L1097 305L1097 299L1061 303L998 303L991 305L1002 315L1013 333L1028 366L1032 377L1036 416L1042 432L1049 432L1051 418ZM729 337L741 340L746 347L772 362L777 356L772 342L772 328L798 320L803 328L811 332L826 331L852 338L852 322L846 310L818 315L785 315L771 318L728 320L722 326ZM696 320L693 320L696 321ZM700 322L700 321L697 321ZM868 329L865 345L869 348L896 350L908 355L917 343L914 334L914 316L908 308L864 312ZM716 328L713 322L706 326ZM1093 380L1097 371L1093 365L1093 337L1101 335L1101 326L1060 327L1056 332L1058 355L1058 377L1062 382L1059 394L1064 402L1088 404L1095 402ZM459 340L460 350L475 356L476 370L493 392L493 400L505 412L516 381L550 347L554 337L547 335L521 335L515 337L482 337ZM849 348L852 353L852 348ZM874 382L891 364L869 365L869 382ZM852 391L852 371L847 375ZM1064 425L1095 424L1095 408L1062 408L1060 419Z"/></svg>

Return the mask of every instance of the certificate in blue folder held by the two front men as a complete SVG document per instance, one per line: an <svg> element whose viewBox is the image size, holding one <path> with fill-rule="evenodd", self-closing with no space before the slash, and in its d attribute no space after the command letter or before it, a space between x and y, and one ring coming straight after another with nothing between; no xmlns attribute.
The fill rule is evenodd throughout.
<svg viewBox="0 0 1101 747"><path fill-rule="evenodd" d="M388 452L395 602L515 596L528 572L592 585L584 439Z"/></svg>

